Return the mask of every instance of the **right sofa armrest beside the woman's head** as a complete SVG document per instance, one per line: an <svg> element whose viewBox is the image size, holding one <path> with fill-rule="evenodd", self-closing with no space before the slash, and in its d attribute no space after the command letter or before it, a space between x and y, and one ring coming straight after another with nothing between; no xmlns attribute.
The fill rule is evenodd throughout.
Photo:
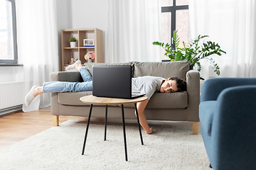
<svg viewBox="0 0 256 170"><path fill-rule="evenodd" d="M198 108L200 103L200 74L196 70L186 73L186 84L188 92L188 120L199 121Z"/></svg>

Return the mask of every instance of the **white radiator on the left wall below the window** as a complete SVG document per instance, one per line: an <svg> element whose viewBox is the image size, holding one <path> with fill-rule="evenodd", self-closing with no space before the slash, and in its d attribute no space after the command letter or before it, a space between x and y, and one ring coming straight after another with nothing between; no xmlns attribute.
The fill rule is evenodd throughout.
<svg viewBox="0 0 256 170"><path fill-rule="evenodd" d="M24 102L23 81L0 83L0 110Z"/></svg>

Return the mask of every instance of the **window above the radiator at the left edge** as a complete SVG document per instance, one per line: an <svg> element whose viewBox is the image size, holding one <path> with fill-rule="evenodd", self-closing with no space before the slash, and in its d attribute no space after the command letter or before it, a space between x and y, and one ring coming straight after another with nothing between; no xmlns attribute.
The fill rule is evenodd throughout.
<svg viewBox="0 0 256 170"><path fill-rule="evenodd" d="M14 0L0 0L0 64L17 64Z"/></svg>

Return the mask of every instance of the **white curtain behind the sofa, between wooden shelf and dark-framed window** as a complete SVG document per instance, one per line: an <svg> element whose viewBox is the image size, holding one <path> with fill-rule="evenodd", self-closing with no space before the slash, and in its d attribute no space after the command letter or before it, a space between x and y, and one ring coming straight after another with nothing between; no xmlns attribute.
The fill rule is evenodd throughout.
<svg viewBox="0 0 256 170"><path fill-rule="evenodd" d="M159 62L159 0L109 0L105 62Z"/></svg>

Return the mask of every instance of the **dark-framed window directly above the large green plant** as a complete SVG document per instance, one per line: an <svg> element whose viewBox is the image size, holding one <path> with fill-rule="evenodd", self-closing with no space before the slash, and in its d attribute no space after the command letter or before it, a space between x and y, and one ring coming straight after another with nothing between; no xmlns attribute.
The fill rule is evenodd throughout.
<svg viewBox="0 0 256 170"><path fill-rule="evenodd" d="M180 45L190 42L188 0L161 0L161 42L169 43L175 47L173 37L174 30L178 30ZM163 59L169 59L161 52Z"/></svg>

